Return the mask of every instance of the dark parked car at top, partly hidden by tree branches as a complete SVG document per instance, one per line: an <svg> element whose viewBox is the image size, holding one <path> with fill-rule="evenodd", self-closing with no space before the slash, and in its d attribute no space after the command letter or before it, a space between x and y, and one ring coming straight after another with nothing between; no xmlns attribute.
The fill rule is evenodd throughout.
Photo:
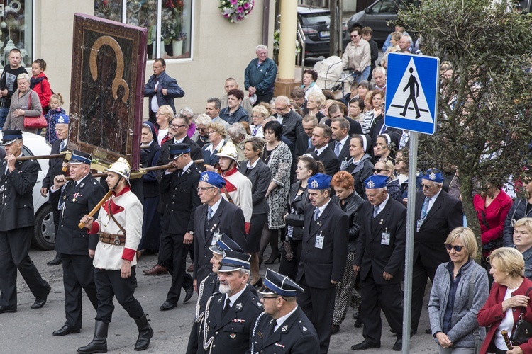
<svg viewBox="0 0 532 354"><path fill-rule="evenodd" d="M384 43L390 33L394 31L394 25L388 21L397 20L399 8L405 8L409 4L418 4L419 0L377 0L370 6L351 16L348 20L348 28L371 27L373 30L372 40Z"/></svg>

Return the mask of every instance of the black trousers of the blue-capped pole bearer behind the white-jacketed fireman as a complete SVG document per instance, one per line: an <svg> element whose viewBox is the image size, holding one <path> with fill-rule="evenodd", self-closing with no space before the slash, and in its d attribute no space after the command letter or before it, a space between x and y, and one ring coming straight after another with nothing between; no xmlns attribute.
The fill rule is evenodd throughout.
<svg viewBox="0 0 532 354"><path fill-rule="evenodd" d="M177 303L181 288L187 290L192 287L194 280L187 273L187 253L189 245L183 244L184 235L170 234L163 230L159 246L159 264L168 269L172 275L172 285L166 296L166 301Z"/></svg>

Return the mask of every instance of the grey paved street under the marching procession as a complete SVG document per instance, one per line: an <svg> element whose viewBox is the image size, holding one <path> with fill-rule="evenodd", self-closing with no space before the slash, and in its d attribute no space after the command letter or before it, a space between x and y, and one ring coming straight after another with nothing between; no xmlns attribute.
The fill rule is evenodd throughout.
<svg viewBox="0 0 532 354"><path fill-rule="evenodd" d="M18 275L18 312L0 314L0 353L76 353L77 348L87 345L92 340L95 312L86 297L84 297L85 311L82 332L64 337L52 336L52 331L60 329L65 323L62 268L61 266L49 267L46 265L46 262L50 261L54 255L53 251L31 251L31 258L43 278L50 282L52 292L45 307L30 309L34 298L20 274ZM156 260L157 256L146 256L140 260L138 265L140 275L138 275L138 289L135 291L135 297L139 299L145 312L149 314L150 324L155 331L150 348L145 353L184 353L189 338L190 323L194 318L197 297L194 295L188 304L183 304L180 300L179 307L169 312L161 312L159 307L165 301L167 287L170 284L170 275L155 277L142 275L142 270L150 268ZM272 268L277 270L278 267L279 263L275 263ZM262 265L262 274L265 273L265 269L265 266ZM135 322L128 317L116 301L115 306L107 340L109 353L133 353L133 346L138 335ZM350 309L348 312L347 318L340 326L340 332L332 337L329 353L355 353L350 347L362 341L362 330L353 328L352 311ZM389 326L384 316L382 316L382 323L382 348L365 350L364 353L395 353L392 351L395 336L389 332ZM410 353L437 353L436 343L433 342L430 335L424 333L426 328L428 328L428 315L424 310L419 325L420 333L411 339Z"/></svg>

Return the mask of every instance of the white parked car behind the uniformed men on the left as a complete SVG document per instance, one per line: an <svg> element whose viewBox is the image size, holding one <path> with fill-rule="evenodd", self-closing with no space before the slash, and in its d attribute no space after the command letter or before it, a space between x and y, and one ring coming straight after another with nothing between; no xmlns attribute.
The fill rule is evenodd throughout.
<svg viewBox="0 0 532 354"><path fill-rule="evenodd" d="M29 132L22 133L24 156L50 155L52 147L44 137ZM1 145L4 149L4 146ZM55 225L52 206L48 204L48 196L40 195L43 178L48 173L48 159L35 160L39 164L37 182L33 187L33 209L35 210L35 230L31 244L39 249L50 250L55 244Z"/></svg>

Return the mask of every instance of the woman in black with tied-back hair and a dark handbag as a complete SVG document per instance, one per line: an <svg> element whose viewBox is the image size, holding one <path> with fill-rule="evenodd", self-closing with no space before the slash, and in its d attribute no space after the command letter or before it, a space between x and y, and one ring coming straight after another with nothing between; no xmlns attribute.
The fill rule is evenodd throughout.
<svg viewBox="0 0 532 354"><path fill-rule="evenodd" d="M284 248L281 255L279 273L295 279L297 266L301 259L301 243L303 241L303 222L306 204L309 202L307 181L316 173L325 173L321 161L316 161L308 154L299 156L297 159L296 179L292 183L288 195L289 213L284 215L287 229L284 234Z"/></svg>

